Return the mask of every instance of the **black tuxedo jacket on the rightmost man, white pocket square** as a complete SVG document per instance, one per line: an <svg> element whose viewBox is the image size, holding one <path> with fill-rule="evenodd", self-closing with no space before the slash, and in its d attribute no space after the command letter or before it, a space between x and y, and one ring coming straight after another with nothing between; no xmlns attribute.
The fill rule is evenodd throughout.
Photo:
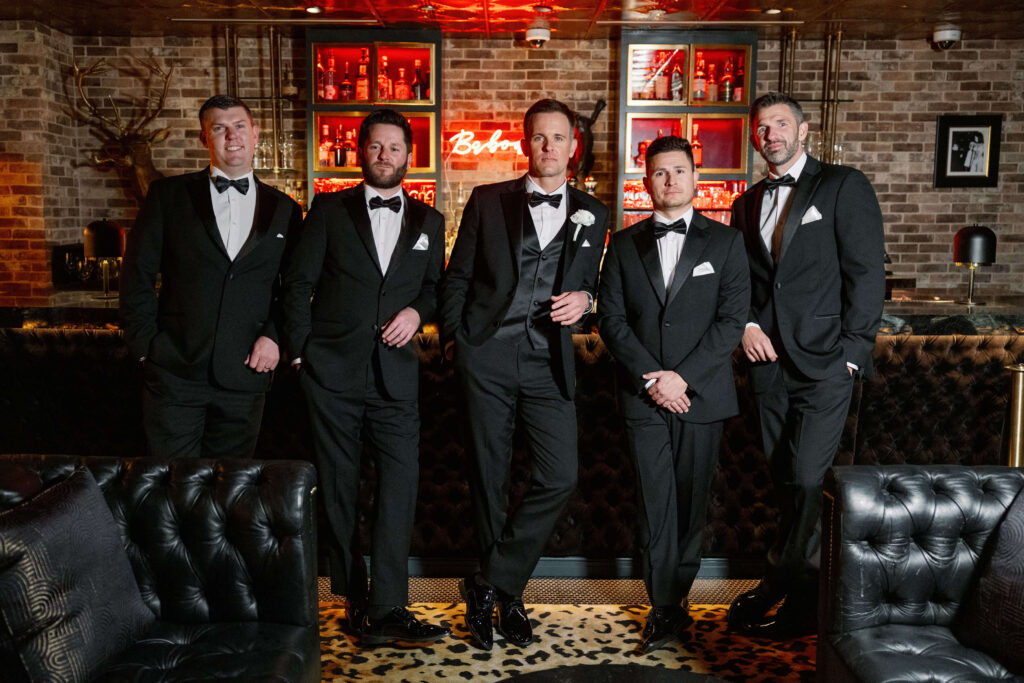
<svg viewBox="0 0 1024 683"><path fill-rule="evenodd" d="M732 205L732 224L743 232L751 262L749 322L812 380L834 376L847 362L870 377L885 299L885 238L874 190L860 171L808 157L793 188L776 266L760 232L765 187L762 180ZM755 364L755 387L760 374Z"/></svg>

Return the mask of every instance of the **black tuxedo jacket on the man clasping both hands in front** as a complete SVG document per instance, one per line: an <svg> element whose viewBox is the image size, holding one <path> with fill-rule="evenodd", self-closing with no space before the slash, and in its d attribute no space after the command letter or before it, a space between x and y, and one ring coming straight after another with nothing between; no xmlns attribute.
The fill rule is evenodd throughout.
<svg viewBox="0 0 1024 683"><path fill-rule="evenodd" d="M656 410L645 373L673 370L689 385L688 422L737 413L732 352L750 308L742 236L694 212L667 292L648 217L612 236L601 268L598 328L615 356L620 402L627 418Z"/></svg>

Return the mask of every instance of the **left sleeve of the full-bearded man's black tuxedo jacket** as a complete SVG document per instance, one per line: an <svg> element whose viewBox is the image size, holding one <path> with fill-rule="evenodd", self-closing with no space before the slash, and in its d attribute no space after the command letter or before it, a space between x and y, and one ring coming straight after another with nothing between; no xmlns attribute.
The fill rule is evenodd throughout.
<svg viewBox="0 0 1024 683"><path fill-rule="evenodd" d="M327 254L327 209L319 198L306 214L299 238L285 267L283 307L285 349L293 357L302 355L312 332L311 299L324 269Z"/></svg>

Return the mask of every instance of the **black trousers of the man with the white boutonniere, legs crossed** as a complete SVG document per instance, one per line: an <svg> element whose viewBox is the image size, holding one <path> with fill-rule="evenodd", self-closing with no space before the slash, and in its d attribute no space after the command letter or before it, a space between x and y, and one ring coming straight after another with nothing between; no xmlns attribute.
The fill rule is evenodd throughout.
<svg viewBox="0 0 1024 683"><path fill-rule="evenodd" d="M456 368L466 398L475 472L471 486L483 578L520 595L578 477L575 403L562 396L553 348L489 339L456 342ZM516 416L532 457L530 484L508 514L509 470Z"/></svg>

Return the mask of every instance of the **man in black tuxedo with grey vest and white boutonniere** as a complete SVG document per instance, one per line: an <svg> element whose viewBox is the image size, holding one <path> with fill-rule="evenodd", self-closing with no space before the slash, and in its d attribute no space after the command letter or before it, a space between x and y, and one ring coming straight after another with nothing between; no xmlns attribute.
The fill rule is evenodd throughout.
<svg viewBox="0 0 1024 683"><path fill-rule="evenodd" d="M575 368L570 326L593 308L608 210L566 183L573 114L554 99L523 119L527 174L476 187L444 274L442 337L454 342L474 464L480 571L460 583L466 622L493 645L532 628L522 591L577 483ZM508 514L516 416L534 459L529 489Z"/></svg>

